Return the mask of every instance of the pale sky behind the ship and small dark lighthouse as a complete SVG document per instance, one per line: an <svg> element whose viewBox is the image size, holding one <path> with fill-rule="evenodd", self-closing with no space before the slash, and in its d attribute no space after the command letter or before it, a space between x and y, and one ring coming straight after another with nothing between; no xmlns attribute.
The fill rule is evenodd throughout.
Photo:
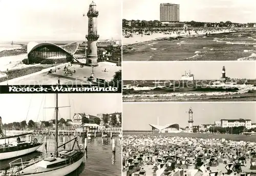
<svg viewBox="0 0 256 176"><path fill-rule="evenodd" d="M179 62L123 62L123 80L180 80L185 71L194 74L195 80L218 80L222 67L226 68L226 77L256 79L256 62L254 61L179 61ZM132 70L132 71L131 71Z"/></svg>

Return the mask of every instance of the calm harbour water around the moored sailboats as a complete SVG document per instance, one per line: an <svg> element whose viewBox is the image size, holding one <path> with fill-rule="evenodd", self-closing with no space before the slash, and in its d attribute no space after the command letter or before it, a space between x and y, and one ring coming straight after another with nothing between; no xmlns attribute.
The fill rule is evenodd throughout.
<svg viewBox="0 0 256 176"><path fill-rule="evenodd" d="M9 136L9 135L8 135ZM42 135L40 136L33 136L32 140L36 138L38 139L38 142L44 142L44 137ZM68 140L73 139L74 137L68 137L65 136L66 142ZM21 140L29 141L29 136L20 137ZM121 174L121 140L119 138L114 138L116 143L116 152L113 154L112 152L112 144L110 138L102 138L102 137L92 137L91 139L88 139L88 151L87 151L87 157L86 162L82 163L80 167L75 170L74 172L70 173L67 176L110 176L110 175L117 175L119 176ZM12 140L16 139L10 139L10 142ZM63 143L63 137L59 136L59 145ZM1 143L4 143L3 139L0 141ZM50 156L50 153L54 153L54 143L55 138L54 136L47 136L47 153L48 157ZM84 138L78 136L78 143L83 144ZM70 145L66 146L66 148L71 148L73 145L73 142L71 142ZM29 161L34 158L39 158L39 156L44 155L44 144L41 146L36 152L31 153L26 156L22 156L21 158L23 161ZM20 158L20 157L17 157ZM15 160L8 159L8 160L2 160L0 161L0 170L4 170L5 168L9 167L9 162Z"/></svg>

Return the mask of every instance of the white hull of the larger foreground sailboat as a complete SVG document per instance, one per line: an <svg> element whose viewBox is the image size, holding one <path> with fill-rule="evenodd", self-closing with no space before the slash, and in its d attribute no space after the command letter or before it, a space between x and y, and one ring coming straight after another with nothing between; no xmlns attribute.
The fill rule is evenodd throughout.
<svg viewBox="0 0 256 176"><path fill-rule="evenodd" d="M55 176L65 176L71 172L73 172L74 170L76 170L81 164L82 162L84 162L84 155L75 163L70 164L68 166L65 167L61 167L61 168L57 168L57 169L53 169L53 170L49 170L49 171L45 171L45 172L39 172L39 173L30 173L30 174L17 174L17 175L35 175L35 176L50 176L50 175L55 175ZM25 168L26 169L26 168ZM14 176L16 174L13 174L12 176Z"/></svg>

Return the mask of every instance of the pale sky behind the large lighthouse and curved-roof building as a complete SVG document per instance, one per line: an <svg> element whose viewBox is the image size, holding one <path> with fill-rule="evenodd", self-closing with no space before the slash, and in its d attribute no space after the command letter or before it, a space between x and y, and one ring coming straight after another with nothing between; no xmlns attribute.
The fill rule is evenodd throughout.
<svg viewBox="0 0 256 176"><path fill-rule="evenodd" d="M94 0L99 40L121 39L121 1ZM0 1L0 41L83 41L92 0ZM85 14L85 16L83 16Z"/></svg>

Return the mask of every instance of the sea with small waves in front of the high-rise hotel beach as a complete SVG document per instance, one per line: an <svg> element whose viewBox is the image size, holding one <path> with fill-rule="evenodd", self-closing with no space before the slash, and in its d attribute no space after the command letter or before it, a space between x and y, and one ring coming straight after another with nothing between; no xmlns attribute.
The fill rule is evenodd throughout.
<svg viewBox="0 0 256 176"><path fill-rule="evenodd" d="M256 30L123 46L123 61L256 60Z"/></svg>

